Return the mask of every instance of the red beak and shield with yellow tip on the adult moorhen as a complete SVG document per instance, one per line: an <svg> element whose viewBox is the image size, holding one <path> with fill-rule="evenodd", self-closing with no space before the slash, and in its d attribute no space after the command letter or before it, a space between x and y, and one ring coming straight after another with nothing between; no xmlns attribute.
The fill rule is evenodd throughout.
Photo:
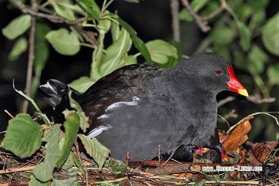
<svg viewBox="0 0 279 186"><path fill-rule="evenodd" d="M243 96L248 97L249 95L248 95L247 90L235 77L235 73L234 73L234 70L231 65L228 66L228 71L230 74L230 81L227 83L229 85L229 89L231 89L232 91L235 91Z"/></svg>

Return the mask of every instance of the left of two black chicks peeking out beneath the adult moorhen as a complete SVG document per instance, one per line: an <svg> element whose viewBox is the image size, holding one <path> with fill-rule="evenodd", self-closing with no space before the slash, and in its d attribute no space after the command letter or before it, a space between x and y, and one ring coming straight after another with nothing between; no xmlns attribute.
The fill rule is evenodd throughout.
<svg viewBox="0 0 279 186"><path fill-rule="evenodd" d="M167 161L171 157L171 159L176 160L178 162L193 162L193 156L194 154L203 154L208 152L209 149L203 148L203 147L198 147L195 145L181 145L176 149L176 151L171 154L164 153L160 155L160 160L162 161ZM218 151L219 152L219 151ZM152 160L158 160L158 156L153 158Z"/></svg>

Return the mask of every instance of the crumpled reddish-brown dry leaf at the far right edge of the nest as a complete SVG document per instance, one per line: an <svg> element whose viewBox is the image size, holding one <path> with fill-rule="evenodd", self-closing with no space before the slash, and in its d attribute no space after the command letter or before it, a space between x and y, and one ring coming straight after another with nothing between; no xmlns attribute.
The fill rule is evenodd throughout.
<svg viewBox="0 0 279 186"><path fill-rule="evenodd" d="M265 162L269 157L271 151L275 149L275 147L279 144L279 142L267 142L266 144L255 143L252 147L253 154L255 158L259 162Z"/></svg>

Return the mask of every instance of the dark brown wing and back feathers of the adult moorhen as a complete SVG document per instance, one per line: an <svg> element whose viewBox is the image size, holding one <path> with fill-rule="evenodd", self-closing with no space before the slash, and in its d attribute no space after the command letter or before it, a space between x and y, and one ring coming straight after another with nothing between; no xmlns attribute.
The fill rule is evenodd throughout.
<svg viewBox="0 0 279 186"><path fill-rule="evenodd" d="M90 129L98 125L97 117L104 114L111 104L132 101L135 94L149 95L153 89L150 87L151 79L159 77L162 71L159 67L134 64L117 69L97 81L78 99L92 124Z"/></svg>

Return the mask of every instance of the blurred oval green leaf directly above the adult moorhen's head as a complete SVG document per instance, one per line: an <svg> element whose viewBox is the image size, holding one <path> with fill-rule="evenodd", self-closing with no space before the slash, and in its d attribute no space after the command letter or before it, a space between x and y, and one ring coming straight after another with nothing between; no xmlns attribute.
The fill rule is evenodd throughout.
<svg viewBox="0 0 279 186"><path fill-rule="evenodd" d="M213 27L209 38L219 45L227 45L235 38L234 30L226 25L217 25Z"/></svg>

